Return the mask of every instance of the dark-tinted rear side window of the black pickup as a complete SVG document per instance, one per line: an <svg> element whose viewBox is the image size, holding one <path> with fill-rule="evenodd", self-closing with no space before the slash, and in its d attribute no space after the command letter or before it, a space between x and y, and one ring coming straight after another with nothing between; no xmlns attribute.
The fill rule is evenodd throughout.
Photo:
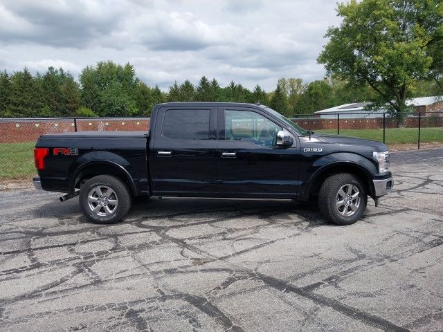
<svg viewBox="0 0 443 332"><path fill-rule="evenodd" d="M173 140L208 140L209 109L168 109L163 136Z"/></svg>

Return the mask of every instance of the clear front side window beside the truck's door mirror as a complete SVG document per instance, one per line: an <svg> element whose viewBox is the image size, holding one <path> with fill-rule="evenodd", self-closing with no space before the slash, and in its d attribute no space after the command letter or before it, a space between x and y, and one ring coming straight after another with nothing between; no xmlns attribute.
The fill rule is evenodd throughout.
<svg viewBox="0 0 443 332"><path fill-rule="evenodd" d="M225 111L225 139L247 140L262 147L272 147L282 127L252 111Z"/></svg>

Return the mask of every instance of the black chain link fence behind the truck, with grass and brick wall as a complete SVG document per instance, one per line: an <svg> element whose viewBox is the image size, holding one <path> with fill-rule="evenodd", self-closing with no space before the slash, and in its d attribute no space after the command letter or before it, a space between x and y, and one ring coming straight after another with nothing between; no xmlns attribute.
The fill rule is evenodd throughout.
<svg viewBox="0 0 443 332"><path fill-rule="evenodd" d="M323 113L287 116L314 133L385 142L391 150L443 147L443 112ZM37 174L35 141L44 133L73 131L147 131L150 118L0 119L0 190L30 187Z"/></svg>

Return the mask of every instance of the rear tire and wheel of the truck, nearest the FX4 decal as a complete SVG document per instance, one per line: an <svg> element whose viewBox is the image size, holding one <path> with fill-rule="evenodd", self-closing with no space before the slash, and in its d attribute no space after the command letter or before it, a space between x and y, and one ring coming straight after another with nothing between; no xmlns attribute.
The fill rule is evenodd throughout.
<svg viewBox="0 0 443 332"><path fill-rule="evenodd" d="M109 224L118 223L129 212L132 199L127 186L119 178L99 175L82 185L79 202L83 214L90 221Z"/></svg>

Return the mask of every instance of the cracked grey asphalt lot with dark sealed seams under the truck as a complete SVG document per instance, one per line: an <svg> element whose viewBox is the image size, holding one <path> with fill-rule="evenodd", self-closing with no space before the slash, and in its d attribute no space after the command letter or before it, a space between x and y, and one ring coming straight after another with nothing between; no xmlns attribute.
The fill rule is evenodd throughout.
<svg viewBox="0 0 443 332"><path fill-rule="evenodd" d="M312 203L0 192L0 331L443 331L443 149L392 154L363 219Z"/></svg>

